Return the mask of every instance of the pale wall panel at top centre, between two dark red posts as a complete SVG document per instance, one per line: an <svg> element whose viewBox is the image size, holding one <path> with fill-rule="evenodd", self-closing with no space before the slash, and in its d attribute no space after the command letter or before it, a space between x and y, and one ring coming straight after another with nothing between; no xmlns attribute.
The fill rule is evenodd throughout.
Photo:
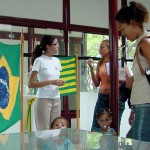
<svg viewBox="0 0 150 150"><path fill-rule="evenodd" d="M108 20L107 0L70 0L71 24L108 28Z"/></svg>

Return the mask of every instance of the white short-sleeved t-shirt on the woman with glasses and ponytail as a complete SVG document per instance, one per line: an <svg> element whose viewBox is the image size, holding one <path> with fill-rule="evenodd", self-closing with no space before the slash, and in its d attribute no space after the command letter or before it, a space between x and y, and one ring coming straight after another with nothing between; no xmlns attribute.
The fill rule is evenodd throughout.
<svg viewBox="0 0 150 150"><path fill-rule="evenodd" d="M35 59L32 66L32 71L38 72L38 80L55 80L59 79L60 71L62 70L58 58L42 55ZM47 85L38 88L36 93L38 98L60 98L59 88L56 85Z"/></svg>

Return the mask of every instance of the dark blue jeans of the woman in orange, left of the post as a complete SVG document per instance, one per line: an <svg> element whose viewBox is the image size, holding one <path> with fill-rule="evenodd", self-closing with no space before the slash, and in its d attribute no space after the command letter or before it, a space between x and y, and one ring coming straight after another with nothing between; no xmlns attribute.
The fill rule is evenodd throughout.
<svg viewBox="0 0 150 150"><path fill-rule="evenodd" d="M94 128L99 128L99 124L96 119L96 113L101 108L109 108L109 94L98 94L98 99L96 101L95 109L94 109L94 115L93 115L93 123L91 127L91 131L94 130Z"/></svg>

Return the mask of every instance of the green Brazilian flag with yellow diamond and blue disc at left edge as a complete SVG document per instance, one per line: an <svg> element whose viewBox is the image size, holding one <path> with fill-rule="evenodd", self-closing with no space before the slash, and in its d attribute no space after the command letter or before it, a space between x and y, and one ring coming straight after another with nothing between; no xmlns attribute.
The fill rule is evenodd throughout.
<svg viewBox="0 0 150 150"><path fill-rule="evenodd" d="M20 118L20 44L0 42L0 132Z"/></svg>

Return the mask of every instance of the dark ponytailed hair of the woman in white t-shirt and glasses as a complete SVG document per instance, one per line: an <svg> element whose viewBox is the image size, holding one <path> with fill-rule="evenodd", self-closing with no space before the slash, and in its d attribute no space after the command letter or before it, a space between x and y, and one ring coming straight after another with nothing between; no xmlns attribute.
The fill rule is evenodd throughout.
<svg viewBox="0 0 150 150"><path fill-rule="evenodd" d="M32 53L32 58L31 58L31 63L33 65L34 63L34 60L37 58L37 57L40 57L43 52L46 51L46 46L47 45L51 45L53 43L53 41L55 40L55 38L51 35L44 35L42 37L42 40L40 42L40 45L37 45Z"/></svg>

